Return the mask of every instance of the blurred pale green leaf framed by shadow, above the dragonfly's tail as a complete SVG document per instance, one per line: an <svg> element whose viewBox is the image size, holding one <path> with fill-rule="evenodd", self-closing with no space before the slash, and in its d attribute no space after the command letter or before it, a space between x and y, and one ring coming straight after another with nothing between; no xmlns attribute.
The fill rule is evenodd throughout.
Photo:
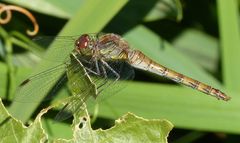
<svg viewBox="0 0 240 143"><path fill-rule="evenodd" d="M219 44L213 36L197 29L186 29L174 39L173 46L205 69L211 72L217 71Z"/></svg>

